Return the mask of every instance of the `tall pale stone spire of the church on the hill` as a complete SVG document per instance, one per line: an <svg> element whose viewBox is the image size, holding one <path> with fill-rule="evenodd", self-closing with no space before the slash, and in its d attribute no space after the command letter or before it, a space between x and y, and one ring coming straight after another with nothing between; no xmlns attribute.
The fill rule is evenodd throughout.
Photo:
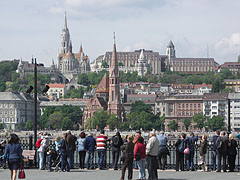
<svg viewBox="0 0 240 180"><path fill-rule="evenodd" d="M66 54L69 50L70 33L67 27L67 13L65 11L64 25L61 34L61 53Z"/></svg>

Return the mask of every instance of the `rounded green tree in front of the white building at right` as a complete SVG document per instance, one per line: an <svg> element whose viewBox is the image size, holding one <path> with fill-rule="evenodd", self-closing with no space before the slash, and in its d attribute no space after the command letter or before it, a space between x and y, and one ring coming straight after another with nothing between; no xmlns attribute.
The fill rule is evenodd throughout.
<svg viewBox="0 0 240 180"><path fill-rule="evenodd" d="M206 126L212 131L223 130L225 128L224 117L213 116L207 120Z"/></svg>

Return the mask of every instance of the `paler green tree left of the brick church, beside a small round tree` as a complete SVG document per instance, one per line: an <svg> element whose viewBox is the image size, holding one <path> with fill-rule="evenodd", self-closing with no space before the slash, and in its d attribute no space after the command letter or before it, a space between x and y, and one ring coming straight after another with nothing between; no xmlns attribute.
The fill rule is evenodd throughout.
<svg viewBox="0 0 240 180"><path fill-rule="evenodd" d="M48 126L49 129L61 129L62 120L63 120L62 112L55 111L48 117Z"/></svg>

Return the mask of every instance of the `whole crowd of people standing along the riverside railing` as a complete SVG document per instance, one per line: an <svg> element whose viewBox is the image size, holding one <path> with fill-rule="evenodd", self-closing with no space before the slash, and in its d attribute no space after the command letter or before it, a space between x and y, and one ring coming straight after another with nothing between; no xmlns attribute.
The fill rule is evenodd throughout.
<svg viewBox="0 0 240 180"><path fill-rule="evenodd" d="M211 139L213 166L210 169L206 164L206 154L209 144L208 136L203 134L199 137L198 135L194 135L194 133L190 133L187 137L185 133L182 133L181 137L175 142L175 170L195 171L195 146L200 140L199 165L202 171L213 170L221 172L222 170L223 172L227 172L228 170L229 172L233 172L237 155L237 141L234 138L233 134L227 136L225 132L215 132L215 135ZM167 156L170 156L168 138L163 131L157 134L155 131L151 131L147 141L141 136L141 131L137 131L135 137L129 135L124 139L122 139L120 132L116 132L116 135L109 138L105 135L104 130L102 130L94 138L92 133L89 133L87 136L85 132L81 132L79 137L76 137L71 131L67 131L62 134L61 138L59 136L56 137L54 149L50 148L49 142L50 138L46 132L39 134L39 140L35 145L38 152L38 167L40 170L48 169L49 171L53 171L52 168L58 166L59 169L57 171L69 172L74 168L75 151L78 152L80 169L95 169L94 154L96 152L98 169L103 170L106 168L107 144L110 144L113 170L120 168L118 166L119 160L122 162L120 180L125 178L126 169L128 169L127 179L132 179L133 168L139 169L139 179L148 178L149 180L157 180L157 169L165 170ZM3 158L8 161L8 167L11 170L11 179L15 180L17 169L19 169L23 159L18 136L11 134L8 143L6 144L6 141L5 144L2 143L0 150L4 152ZM58 164L56 163L57 160L59 160Z"/></svg>

